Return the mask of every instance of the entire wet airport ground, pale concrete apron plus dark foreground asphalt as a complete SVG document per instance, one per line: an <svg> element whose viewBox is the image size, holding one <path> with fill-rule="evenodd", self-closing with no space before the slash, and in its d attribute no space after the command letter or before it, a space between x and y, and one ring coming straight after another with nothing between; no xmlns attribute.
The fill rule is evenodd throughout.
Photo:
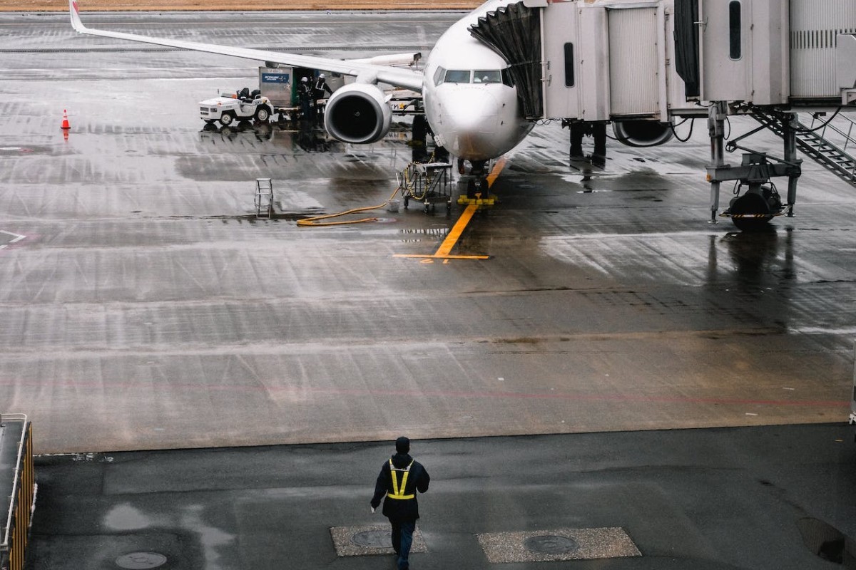
<svg viewBox="0 0 856 570"><path fill-rule="evenodd" d="M357 44L366 56L427 52L456 16L84 18L332 56ZM409 119L368 148L290 126L205 130L197 103L253 85L255 62L77 36L64 15L4 15L0 30L0 411L29 415L37 453L96 454L41 458L37 567L116 567L148 549L185 553L169 567L374 567L337 559L324 529L378 522L358 515L359 497L385 451L359 442L402 431L432 440L418 455L440 479L469 473L432 491L419 567L450 567L459 552L486 567L478 533L612 526L640 558L565 564L823 567L794 520L856 531L852 480L824 479L853 473L852 446L835 439L848 441L856 190L822 168L805 163L794 218L746 234L707 222L704 121L684 144L609 140L591 173L568 166L567 131L537 126L491 187L496 206L454 244L488 258L406 257L440 250L463 209L296 220L385 203L419 151ZM752 145L781 148L772 136ZM257 178L273 180L271 219L257 217ZM596 433L701 427L736 429ZM712 455L699 443L722 433L763 437L737 455L733 442ZM801 443L776 455L764 444L776 434ZM460 439L482 436L502 438ZM200 450L114 455L188 448ZM552 459L515 456L530 448ZM341 450L353 451L340 471L362 470L354 481L330 473ZM663 472L645 467L656 450L687 454L663 460L659 487ZM473 458L490 454L479 483ZM553 469L568 461L564 480ZM123 465L119 487L106 485ZM627 475L620 492L602 479L613 467ZM209 477L228 493L200 498Z"/></svg>

